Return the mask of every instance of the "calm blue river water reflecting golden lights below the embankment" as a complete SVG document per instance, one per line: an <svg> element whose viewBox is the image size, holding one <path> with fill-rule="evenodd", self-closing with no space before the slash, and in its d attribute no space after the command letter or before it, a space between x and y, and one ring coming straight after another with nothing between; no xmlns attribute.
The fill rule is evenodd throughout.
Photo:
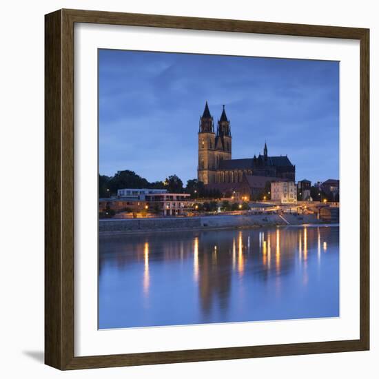
<svg viewBox="0 0 379 379"><path fill-rule="evenodd" d="M339 316L339 227L101 236L99 327Z"/></svg>

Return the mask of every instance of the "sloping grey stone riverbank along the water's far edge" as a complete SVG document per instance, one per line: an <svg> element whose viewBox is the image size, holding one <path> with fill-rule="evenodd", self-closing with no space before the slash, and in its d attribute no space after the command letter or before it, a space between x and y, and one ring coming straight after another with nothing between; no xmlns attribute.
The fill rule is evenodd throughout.
<svg viewBox="0 0 379 379"><path fill-rule="evenodd" d="M134 234L141 232L170 232L173 230L205 230L251 228L267 226L322 224L314 214L238 214L183 218L131 218L99 221L99 234Z"/></svg>

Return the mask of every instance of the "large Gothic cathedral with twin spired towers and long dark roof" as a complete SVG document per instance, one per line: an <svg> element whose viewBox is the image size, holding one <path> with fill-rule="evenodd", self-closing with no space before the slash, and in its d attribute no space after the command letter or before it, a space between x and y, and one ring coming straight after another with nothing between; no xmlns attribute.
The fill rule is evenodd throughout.
<svg viewBox="0 0 379 379"><path fill-rule="evenodd" d="M215 132L214 120L206 102L198 129L198 181L209 187L225 187L227 183L232 187L233 183L242 183L247 176L294 181L295 165L287 156L269 156L266 143L263 155L232 159L232 132L225 105Z"/></svg>

